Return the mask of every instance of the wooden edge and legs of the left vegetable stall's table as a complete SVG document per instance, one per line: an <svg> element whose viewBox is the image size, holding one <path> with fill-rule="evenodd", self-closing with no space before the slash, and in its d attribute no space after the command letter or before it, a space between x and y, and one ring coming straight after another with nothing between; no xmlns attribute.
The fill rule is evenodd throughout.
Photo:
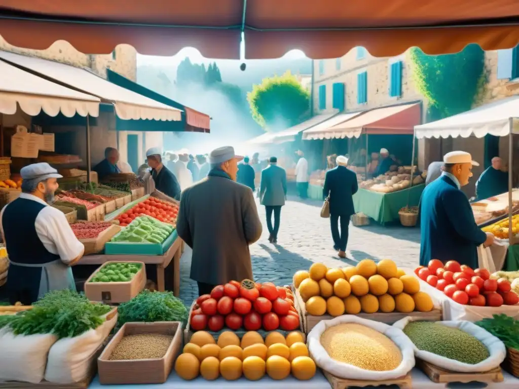
<svg viewBox="0 0 519 389"><path fill-rule="evenodd" d="M159 291L165 290L164 269L173 260L173 295L176 297L180 294L180 256L184 241L178 237L175 239L171 247L163 255L105 255L92 254L85 255L81 258L78 265L102 265L107 261L127 261L127 262L144 262L146 265L157 265L157 288Z"/></svg>

